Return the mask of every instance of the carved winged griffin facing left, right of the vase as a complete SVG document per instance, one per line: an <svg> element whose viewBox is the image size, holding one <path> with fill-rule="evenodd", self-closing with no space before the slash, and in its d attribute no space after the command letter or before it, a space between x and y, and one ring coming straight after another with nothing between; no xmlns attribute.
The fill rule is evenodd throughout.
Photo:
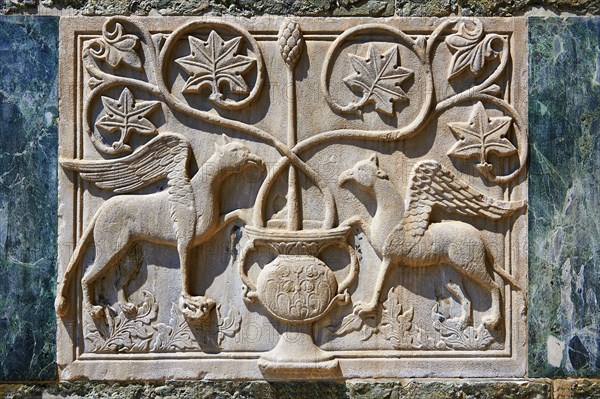
<svg viewBox="0 0 600 399"><path fill-rule="evenodd" d="M364 316L375 311L392 265L426 267L446 264L490 291L491 310L482 322L487 328L498 326L501 291L493 272L518 289L516 281L490 261L479 230L460 221L432 223L431 215L434 208L439 207L450 213L497 220L522 208L526 201L489 198L440 163L426 160L417 162L412 168L403 203L386 172L379 168L376 154L342 173L340 185L349 182L375 197L377 211L370 225L360 218L347 223L360 224L376 253L383 259L373 294L367 302L355 304L356 314ZM399 221L400 216L402 219Z"/></svg>

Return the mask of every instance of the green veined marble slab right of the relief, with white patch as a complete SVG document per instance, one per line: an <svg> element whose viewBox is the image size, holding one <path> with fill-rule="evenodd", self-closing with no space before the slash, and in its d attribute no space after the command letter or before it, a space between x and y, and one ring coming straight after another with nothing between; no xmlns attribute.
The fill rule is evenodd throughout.
<svg viewBox="0 0 600 399"><path fill-rule="evenodd" d="M529 375L600 376L600 18L530 18L529 66Z"/></svg>

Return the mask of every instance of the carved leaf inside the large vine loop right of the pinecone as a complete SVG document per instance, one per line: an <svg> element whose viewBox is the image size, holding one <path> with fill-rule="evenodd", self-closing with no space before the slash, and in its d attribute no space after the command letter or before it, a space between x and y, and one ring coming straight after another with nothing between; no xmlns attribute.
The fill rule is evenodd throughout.
<svg viewBox="0 0 600 399"><path fill-rule="evenodd" d="M398 46L393 46L383 55L369 45L365 58L350 54L350 62L354 73L344 78L344 83L352 89L363 93L357 108L373 102L375 110L386 115L394 114L394 102L408 100L401 84L412 76L413 72L400 66Z"/></svg>

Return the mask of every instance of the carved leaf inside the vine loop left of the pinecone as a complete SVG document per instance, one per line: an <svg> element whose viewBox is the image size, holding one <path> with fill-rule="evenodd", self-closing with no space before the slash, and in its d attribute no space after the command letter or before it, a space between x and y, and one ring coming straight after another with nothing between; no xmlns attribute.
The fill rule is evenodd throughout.
<svg viewBox="0 0 600 399"><path fill-rule="evenodd" d="M207 86L212 90L211 100L219 100L223 97L223 84L227 84L233 93L248 93L243 75L256 59L237 54L241 39L224 41L215 31L210 32L207 41L190 36L190 55L175 60L190 75L182 93L197 93Z"/></svg>

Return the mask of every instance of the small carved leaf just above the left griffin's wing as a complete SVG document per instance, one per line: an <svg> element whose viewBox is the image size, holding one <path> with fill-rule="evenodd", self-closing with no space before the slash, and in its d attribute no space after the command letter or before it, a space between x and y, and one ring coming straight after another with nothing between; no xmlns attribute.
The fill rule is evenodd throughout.
<svg viewBox="0 0 600 399"><path fill-rule="evenodd" d="M96 122L96 127L108 133L121 132L120 139L113 143L113 147L122 147L133 132L156 133L156 127L146 116L158 107L158 101L136 101L129 89L125 88L118 100L103 96L102 104L104 110Z"/></svg>

